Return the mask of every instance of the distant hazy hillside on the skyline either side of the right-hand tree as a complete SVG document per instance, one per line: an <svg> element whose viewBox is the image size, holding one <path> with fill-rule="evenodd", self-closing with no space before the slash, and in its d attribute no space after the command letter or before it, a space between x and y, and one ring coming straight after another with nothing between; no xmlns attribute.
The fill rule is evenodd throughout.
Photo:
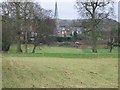
<svg viewBox="0 0 120 90"><path fill-rule="evenodd" d="M83 25L84 24L84 25ZM102 30L108 30L108 28L118 29L119 22L113 19L104 19L99 23L99 27ZM69 19L59 19L60 26L76 26L76 27L87 27L89 24L88 19L79 20L69 20Z"/></svg>

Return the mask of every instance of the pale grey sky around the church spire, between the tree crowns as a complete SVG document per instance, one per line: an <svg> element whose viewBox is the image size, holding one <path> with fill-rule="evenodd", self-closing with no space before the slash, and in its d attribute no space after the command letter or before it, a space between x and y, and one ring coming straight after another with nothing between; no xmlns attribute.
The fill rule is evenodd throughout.
<svg viewBox="0 0 120 90"><path fill-rule="evenodd" d="M41 6L45 9L51 9L54 12L55 2L41 2ZM75 2L58 2L58 16L61 19L76 19L78 18Z"/></svg>

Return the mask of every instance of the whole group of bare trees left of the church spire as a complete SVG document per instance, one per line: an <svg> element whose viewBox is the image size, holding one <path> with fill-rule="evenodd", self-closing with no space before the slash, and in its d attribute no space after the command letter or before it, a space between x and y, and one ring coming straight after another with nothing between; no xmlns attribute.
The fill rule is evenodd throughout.
<svg viewBox="0 0 120 90"><path fill-rule="evenodd" d="M0 3L2 18L2 50L8 51L11 42L17 43L17 52L23 52L21 48L21 25L24 30L25 52L27 53L28 31L30 22L32 30L37 33L34 40L35 48L44 39L53 33L55 21L52 19L52 11L43 9L38 3L33 2L2 2Z"/></svg>

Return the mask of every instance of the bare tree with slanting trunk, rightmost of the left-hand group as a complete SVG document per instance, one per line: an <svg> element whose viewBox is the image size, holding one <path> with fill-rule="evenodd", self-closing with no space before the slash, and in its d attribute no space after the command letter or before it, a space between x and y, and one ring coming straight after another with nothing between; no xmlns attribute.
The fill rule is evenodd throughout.
<svg viewBox="0 0 120 90"><path fill-rule="evenodd" d="M50 10L45 10L39 4L34 4L33 23L34 32L37 34L34 38L34 48L32 51L32 53L35 53L35 49L40 43L48 42L47 39L53 34L55 22L52 19Z"/></svg>

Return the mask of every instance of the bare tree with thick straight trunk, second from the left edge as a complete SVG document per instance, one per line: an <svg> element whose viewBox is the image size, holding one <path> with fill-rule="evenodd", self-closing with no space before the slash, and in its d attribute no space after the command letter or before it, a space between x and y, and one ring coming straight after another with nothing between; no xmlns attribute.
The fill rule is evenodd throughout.
<svg viewBox="0 0 120 90"><path fill-rule="evenodd" d="M17 52L22 52L21 41L20 41L20 2L3 2L1 3L2 15L7 15L8 18L14 19L16 23L14 27L16 28L16 37L17 37Z"/></svg>

